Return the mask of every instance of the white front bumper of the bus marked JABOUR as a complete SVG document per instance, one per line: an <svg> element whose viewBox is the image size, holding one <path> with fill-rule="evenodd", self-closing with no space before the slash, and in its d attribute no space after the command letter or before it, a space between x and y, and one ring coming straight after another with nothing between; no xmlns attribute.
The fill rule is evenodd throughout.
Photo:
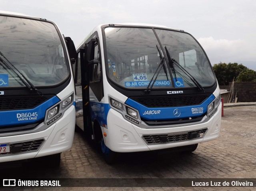
<svg viewBox="0 0 256 191"><path fill-rule="evenodd" d="M205 123L194 125L186 125L181 127L167 127L167 128L149 128L143 129L134 125L124 119L124 117L110 109L107 117L108 128L103 128L107 136L105 137L105 144L112 151L116 152L136 152L136 151L150 151L157 149L167 149L171 147L180 147L185 145L192 145L217 139L220 133L221 123L221 104L218 106L216 113ZM170 125L171 126L171 125ZM148 144L142 138L143 135L159 135L159 134L179 134L180 132L191 132L198 129L206 129L207 131L203 137L190 139L185 141L173 141L160 144Z"/></svg>

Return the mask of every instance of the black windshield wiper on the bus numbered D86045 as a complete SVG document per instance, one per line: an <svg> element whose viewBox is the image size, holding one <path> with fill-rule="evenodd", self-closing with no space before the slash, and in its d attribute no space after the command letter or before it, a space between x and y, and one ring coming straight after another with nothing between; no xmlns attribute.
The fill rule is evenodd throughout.
<svg viewBox="0 0 256 191"><path fill-rule="evenodd" d="M23 74L22 74L22 72L20 72L20 70L18 70L5 56L4 56L4 54L2 53L2 52L0 52L0 55L5 59L5 60L7 60L7 62L12 66L12 67L10 67L10 65L7 63L7 62L5 62L1 57L0 57L0 61L7 67L7 68L9 68L10 70L12 70L12 72L14 73L14 74L16 74L16 76L18 76L18 78L20 78L20 80L23 82L23 84L25 84L25 86L30 90L30 91L36 91L37 93L38 93L38 95L40 95L40 96L43 96L42 95L42 92L40 92L40 91L38 91L38 89L28 80L28 78L26 78L26 76L24 76ZM20 74L18 74L16 71L18 71L18 73L20 73ZM21 76L24 78L22 78ZM26 80L26 81L25 81Z"/></svg>

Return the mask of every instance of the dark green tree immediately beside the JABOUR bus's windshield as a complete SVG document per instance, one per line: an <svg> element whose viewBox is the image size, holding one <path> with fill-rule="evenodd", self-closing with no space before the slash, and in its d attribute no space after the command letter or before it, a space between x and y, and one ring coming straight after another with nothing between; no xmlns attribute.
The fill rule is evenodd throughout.
<svg viewBox="0 0 256 191"><path fill-rule="evenodd" d="M219 85L228 85L233 79L236 80L240 72L248 70L248 68L242 64L234 63L222 63L214 64L212 67Z"/></svg>

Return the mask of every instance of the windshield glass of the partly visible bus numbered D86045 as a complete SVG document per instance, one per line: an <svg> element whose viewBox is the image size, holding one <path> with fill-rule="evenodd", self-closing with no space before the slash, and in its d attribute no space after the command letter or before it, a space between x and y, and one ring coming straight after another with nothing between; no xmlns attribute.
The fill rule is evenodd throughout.
<svg viewBox="0 0 256 191"><path fill-rule="evenodd" d="M34 86L51 86L67 78L64 51L53 24L0 16L0 28L1 86L25 86L3 62L13 64Z"/></svg>

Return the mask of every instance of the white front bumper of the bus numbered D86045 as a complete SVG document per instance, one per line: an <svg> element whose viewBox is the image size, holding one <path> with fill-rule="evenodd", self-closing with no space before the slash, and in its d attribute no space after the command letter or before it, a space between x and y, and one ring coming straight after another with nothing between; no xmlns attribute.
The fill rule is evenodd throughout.
<svg viewBox="0 0 256 191"><path fill-rule="evenodd" d="M63 117L44 131L22 135L0 137L0 143L22 143L44 139L37 151L0 155L0 162L30 159L61 153L72 147L75 129L75 107L68 108Z"/></svg>

